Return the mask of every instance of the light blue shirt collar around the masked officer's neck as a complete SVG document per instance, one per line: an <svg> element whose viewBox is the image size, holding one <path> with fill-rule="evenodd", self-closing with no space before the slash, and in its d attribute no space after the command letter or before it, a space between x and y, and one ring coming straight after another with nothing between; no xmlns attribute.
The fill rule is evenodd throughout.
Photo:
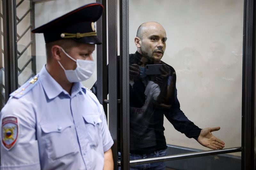
<svg viewBox="0 0 256 170"><path fill-rule="evenodd" d="M54 78L52 78L52 76L46 70L45 65L39 73L39 79L49 99L57 97L61 92L69 95L68 92L64 90ZM71 97L74 97L78 92L82 91L82 88L83 85L80 82L73 83Z"/></svg>

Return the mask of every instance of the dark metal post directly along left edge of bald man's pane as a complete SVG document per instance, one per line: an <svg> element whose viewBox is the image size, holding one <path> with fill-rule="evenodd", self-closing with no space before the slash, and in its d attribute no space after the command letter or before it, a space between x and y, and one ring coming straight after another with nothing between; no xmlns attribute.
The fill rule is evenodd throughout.
<svg viewBox="0 0 256 170"><path fill-rule="evenodd" d="M129 1L120 0L121 169L130 169Z"/></svg>

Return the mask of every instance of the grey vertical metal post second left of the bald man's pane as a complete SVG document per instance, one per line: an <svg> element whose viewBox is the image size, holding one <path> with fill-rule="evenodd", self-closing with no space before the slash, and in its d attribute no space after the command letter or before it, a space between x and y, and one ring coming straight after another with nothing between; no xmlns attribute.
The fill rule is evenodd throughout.
<svg viewBox="0 0 256 170"><path fill-rule="evenodd" d="M117 0L108 0L108 92L109 130L114 140L114 169L117 169Z"/></svg>

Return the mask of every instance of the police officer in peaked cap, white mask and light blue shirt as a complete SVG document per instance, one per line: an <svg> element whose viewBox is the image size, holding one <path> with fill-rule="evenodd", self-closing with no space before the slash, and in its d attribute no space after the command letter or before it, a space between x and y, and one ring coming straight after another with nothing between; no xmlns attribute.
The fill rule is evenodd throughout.
<svg viewBox="0 0 256 170"><path fill-rule="evenodd" d="M105 113L80 81L94 70L101 4L84 5L34 29L47 63L1 111L1 169L113 169Z"/></svg>

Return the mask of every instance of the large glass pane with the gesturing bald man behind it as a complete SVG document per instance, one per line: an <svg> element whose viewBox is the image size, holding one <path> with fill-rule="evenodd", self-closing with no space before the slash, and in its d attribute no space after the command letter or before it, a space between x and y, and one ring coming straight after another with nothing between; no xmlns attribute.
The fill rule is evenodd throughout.
<svg viewBox="0 0 256 170"><path fill-rule="evenodd" d="M221 127L212 134L225 148L241 146L243 4L129 1L131 159L164 155L166 144L167 155L210 150L195 140L198 127ZM137 33L148 21L160 24L144 24ZM214 159L241 167L240 153L231 155L200 158L211 166L197 168L188 167L196 164L186 162L192 159L173 161L172 168L214 169Z"/></svg>

